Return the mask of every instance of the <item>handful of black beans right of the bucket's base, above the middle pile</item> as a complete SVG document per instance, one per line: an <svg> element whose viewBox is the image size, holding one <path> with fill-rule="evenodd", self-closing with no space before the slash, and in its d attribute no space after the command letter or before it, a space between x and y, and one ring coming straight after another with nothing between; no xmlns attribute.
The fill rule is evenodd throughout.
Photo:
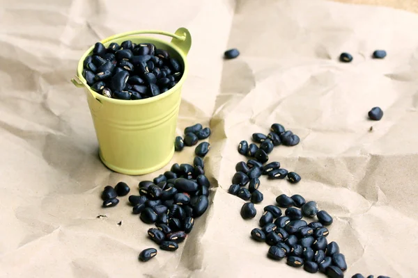
<svg viewBox="0 0 418 278"><path fill-rule="evenodd" d="M197 144L199 140L204 140L210 136L210 128L205 127L201 124L194 124L193 126L187 126L185 128L185 137L177 136L174 141L174 149L176 152L181 152L185 146L192 147ZM208 154L210 149L210 144L208 142L201 142L194 153L196 156L204 157Z"/></svg>

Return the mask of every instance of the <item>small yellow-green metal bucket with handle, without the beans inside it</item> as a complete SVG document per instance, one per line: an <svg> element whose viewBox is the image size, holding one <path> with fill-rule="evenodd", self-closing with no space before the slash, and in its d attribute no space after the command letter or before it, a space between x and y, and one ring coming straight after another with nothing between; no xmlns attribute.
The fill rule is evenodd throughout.
<svg viewBox="0 0 418 278"><path fill-rule="evenodd" d="M178 33L189 37L185 28L178 29L176 34ZM144 35L120 34L102 41L105 47L111 42L121 44L125 40L132 40L137 44L153 43L157 49L169 51L171 57L177 58L182 63L184 71L180 81L167 92L148 99L129 101L110 99L94 92L86 85L82 76L83 61L91 54L93 48L86 51L80 59L77 77L82 81L87 95L88 107L98 138L100 159L111 170L131 175L147 174L164 167L171 160L174 153L181 88L188 71L186 54L191 44L190 38L188 39L189 42L179 40L180 43L176 44L178 40L176 38L167 42Z"/></svg>

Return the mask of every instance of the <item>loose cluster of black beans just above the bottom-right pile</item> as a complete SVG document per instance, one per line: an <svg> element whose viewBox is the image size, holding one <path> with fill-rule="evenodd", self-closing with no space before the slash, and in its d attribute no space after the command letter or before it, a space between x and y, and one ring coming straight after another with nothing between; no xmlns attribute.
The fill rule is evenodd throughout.
<svg viewBox="0 0 418 278"><path fill-rule="evenodd" d="M247 163L240 161L235 165L235 174L232 178L232 185L229 187L229 193L236 195L245 201L251 199L251 202L258 204L263 201L263 193L258 190L261 185L261 175L268 176L268 179L284 179L288 177L291 183L298 183L301 180L299 174L288 172L281 168L278 161L268 163L268 154L274 147L281 144L294 146L300 142L297 135L292 131L286 131L281 124L272 124L270 133L265 136L263 133L254 133L252 139L256 143L260 143L259 147L256 143L242 140L238 145L238 152L244 156L249 156ZM265 164L267 163L267 164ZM245 187L249 184L248 189Z"/></svg>

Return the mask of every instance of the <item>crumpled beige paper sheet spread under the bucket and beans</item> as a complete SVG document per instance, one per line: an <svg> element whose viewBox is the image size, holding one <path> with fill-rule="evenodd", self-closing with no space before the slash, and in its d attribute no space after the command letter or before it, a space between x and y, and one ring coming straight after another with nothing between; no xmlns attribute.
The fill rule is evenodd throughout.
<svg viewBox="0 0 418 278"><path fill-rule="evenodd" d="M152 226L130 213L127 197L101 208L100 192L125 181L135 193L169 165L144 177L107 170L70 78L98 40L180 26L193 45L178 134L210 124L211 205L177 252L140 263L139 252L155 247ZM20 0L2 1L0 28L0 277L321 277L266 259L268 245L249 238L282 193L334 216L327 239L346 255L346 277L417 277L417 15L318 0ZM224 61L231 47L241 55ZM376 49L387 58L373 60ZM353 63L339 63L342 51ZM385 111L380 122L366 118L373 106ZM277 147L270 161L302 181L262 178L264 201L244 221L244 201L227 193L245 159L237 145L274 122L301 142ZM192 162L193 150L170 165Z"/></svg>

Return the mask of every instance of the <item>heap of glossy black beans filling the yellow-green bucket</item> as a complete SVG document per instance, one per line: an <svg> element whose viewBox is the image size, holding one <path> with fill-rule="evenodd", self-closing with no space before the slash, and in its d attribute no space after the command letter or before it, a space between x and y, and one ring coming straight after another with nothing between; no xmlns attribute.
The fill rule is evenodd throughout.
<svg viewBox="0 0 418 278"><path fill-rule="evenodd" d="M183 67L169 52L154 44L125 40L104 47L94 46L84 60L83 76L92 90L114 99L155 97L173 88L183 76Z"/></svg>

